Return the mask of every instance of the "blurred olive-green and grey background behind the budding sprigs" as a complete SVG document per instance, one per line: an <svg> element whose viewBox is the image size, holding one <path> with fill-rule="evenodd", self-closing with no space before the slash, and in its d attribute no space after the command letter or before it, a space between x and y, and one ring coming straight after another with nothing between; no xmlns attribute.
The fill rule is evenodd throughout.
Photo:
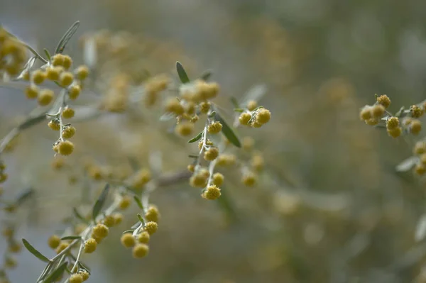
<svg viewBox="0 0 426 283"><path fill-rule="evenodd" d="M119 245L136 220L133 205L99 251L84 257L89 282L425 282L426 243L415 240L425 185L395 172L415 140L359 121L376 93L391 97L391 111L425 99L425 1L0 0L0 7L0 23L38 50L53 49L80 20L67 48L75 62L83 60L84 38L104 36L109 51L99 57L94 93L107 91L116 73L137 80L145 70L173 72L176 60L193 76L212 70L227 109L230 96L268 87L261 104L271 123L239 131L265 157L258 186L225 172L231 209L201 199L186 182L154 192L162 219L150 255L133 260ZM1 135L34 106L19 87L2 87ZM81 157L110 165L131 152L145 164L153 150L163 152L165 170L184 170L194 148L168 137L155 111L142 112L77 123L72 174L80 174ZM35 189L18 213L18 235L48 255L46 239L82 202L70 172L50 167L54 141L55 133L36 126L5 156L11 177L3 197ZM43 269L26 251L18 261L13 282L33 282Z"/></svg>

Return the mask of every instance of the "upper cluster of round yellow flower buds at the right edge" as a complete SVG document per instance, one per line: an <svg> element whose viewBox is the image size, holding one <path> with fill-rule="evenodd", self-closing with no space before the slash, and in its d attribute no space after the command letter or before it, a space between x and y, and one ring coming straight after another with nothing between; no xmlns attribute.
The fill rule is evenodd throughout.
<svg viewBox="0 0 426 283"><path fill-rule="evenodd" d="M388 135L393 138L398 138L403 133L418 135L422 131L422 123L418 118L425 113L426 104L413 105L407 110L402 107L395 115L387 110L390 105L391 99L385 94L376 96L376 103L364 106L359 116L368 125L386 127Z"/></svg>

